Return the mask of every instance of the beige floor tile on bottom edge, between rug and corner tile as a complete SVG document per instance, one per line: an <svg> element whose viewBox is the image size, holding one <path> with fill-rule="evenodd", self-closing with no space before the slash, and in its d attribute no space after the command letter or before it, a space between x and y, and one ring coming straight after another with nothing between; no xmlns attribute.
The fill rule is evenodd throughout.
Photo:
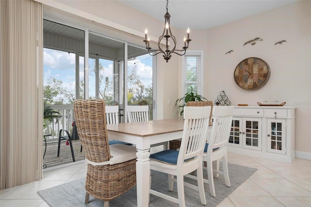
<svg viewBox="0 0 311 207"><path fill-rule="evenodd" d="M273 197L234 197L230 199L236 207L284 207Z"/></svg>

